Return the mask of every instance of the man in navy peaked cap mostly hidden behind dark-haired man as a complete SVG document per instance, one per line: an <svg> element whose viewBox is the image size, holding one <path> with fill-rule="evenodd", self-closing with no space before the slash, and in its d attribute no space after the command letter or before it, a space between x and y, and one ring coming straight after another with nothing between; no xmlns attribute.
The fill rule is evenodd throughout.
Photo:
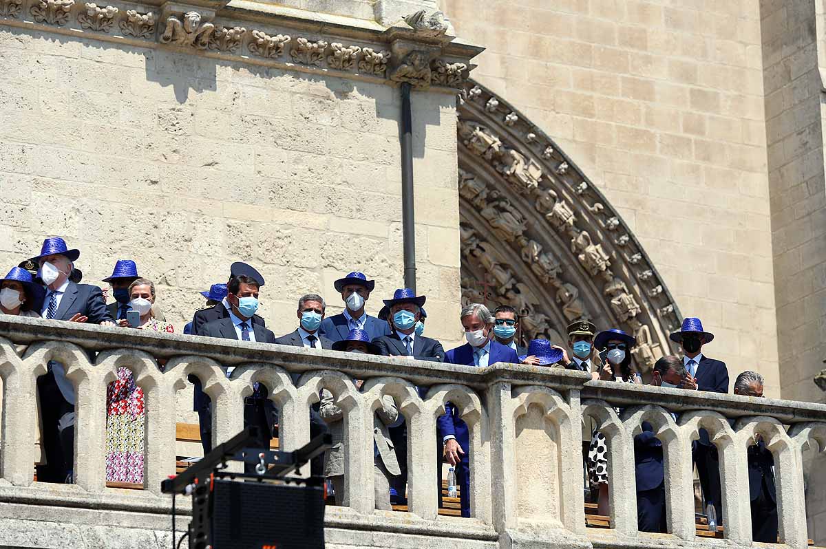
<svg viewBox="0 0 826 549"><path fill-rule="evenodd" d="M246 263L241 263L240 261L232 263L230 266L230 280L227 282L227 286L229 286L236 277L246 277L252 279L258 284L259 288L263 286L264 283L261 273L256 271L254 267L250 267ZM230 304L229 296L225 296L221 299L221 302L216 303L216 305L213 305L212 307L197 310L195 315L192 316L192 334L207 335L201 333L203 327L210 322L230 318L230 310L232 310L232 305ZM264 327L264 321L259 315L252 315L250 320L254 326L258 326L259 328ZM206 455L212 449L211 402L209 396L203 391L201 380L199 380L197 376L189 376L189 381L195 386L192 391L192 409L198 414L198 426L201 431L201 445L204 449L204 455Z"/></svg>

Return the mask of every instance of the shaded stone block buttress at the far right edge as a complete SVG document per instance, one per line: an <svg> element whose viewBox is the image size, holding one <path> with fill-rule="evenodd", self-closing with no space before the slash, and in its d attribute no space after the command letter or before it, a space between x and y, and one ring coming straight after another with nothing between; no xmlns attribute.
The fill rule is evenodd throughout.
<svg viewBox="0 0 826 549"><path fill-rule="evenodd" d="M824 402L812 382L826 358L826 180L822 2L761 2L771 241L783 398ZM826 539L826 458L810 456L809 535Z"/></svg>

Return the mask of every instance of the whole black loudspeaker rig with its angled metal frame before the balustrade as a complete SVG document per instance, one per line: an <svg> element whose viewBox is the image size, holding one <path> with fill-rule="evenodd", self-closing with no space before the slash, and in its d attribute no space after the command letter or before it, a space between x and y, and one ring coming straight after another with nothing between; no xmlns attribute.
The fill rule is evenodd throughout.
<svg viewBox="0 0 826 549"><path fill-rule="evenodd" d="M330 434L294 452L273 452L249 447L257 433L254 426L244 428L161 483L161 491L172 494L173 547L179 494L192 495L192 522L184 534L190 549L324 547L324 479L287 475L329 449ZM226 471L227 461L243 461L255 472Z"/></svg>

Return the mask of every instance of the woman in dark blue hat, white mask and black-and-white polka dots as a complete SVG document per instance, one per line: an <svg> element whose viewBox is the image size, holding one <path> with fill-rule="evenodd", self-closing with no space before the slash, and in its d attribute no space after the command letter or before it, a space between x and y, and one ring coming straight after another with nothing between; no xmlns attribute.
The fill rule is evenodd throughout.
<svg viewBox="0 0 826 549"><path fill-rule="evenodd" d="M622 381L642 384L643 378L632 366L631 349L637 344L634 336L621 329L608 329L596 334L594 348L603 357L603 364L591 375L601 381ZM599 431L591 437L588 448L588 478L591 490L598 490L596 513L607 515L608 509L608 445Z"/></svg>

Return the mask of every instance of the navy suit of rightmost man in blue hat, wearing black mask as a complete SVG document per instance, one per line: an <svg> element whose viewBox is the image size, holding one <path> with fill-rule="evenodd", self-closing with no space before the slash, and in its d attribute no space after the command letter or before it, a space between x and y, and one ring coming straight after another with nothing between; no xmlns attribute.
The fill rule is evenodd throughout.
<svg viewBox="0 0 826 549"><path fill-rule="evenodd" d="M724 394L729 392L729 370L725 367L725 362L703 355L694 376L697 379L697 390ZM714 504L717 523L722 524L723 495L720 491L719 454L705 429L700 429L700 439L692 446L692 456L697 466L697 476L700 477L705 504Z"/></svg>

